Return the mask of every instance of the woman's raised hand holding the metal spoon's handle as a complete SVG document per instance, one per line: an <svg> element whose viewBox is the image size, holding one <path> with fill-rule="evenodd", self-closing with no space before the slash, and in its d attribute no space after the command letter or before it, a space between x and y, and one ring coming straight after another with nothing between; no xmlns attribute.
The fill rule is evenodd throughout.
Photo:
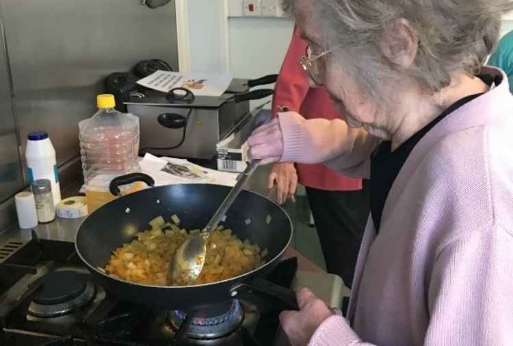
<svg viewBox="0 0 513 346"><path fill-rule="evenodd" d="M258 127L248 138L249 153L253 159L262 159L262 164L280 160L283 153L283 134L278 119Z"/></svg>

